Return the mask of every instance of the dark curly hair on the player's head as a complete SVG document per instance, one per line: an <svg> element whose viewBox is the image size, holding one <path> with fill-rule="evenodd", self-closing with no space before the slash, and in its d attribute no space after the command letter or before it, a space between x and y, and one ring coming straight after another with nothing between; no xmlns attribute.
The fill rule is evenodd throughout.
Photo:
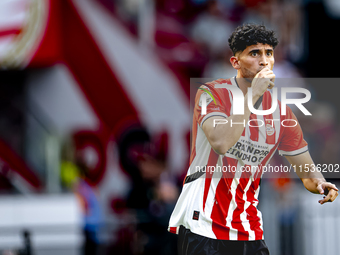
<svg viewBox="0 0 340 255"><path fill-rule="evenodd" d="M229 37L229 47L234 53L242 52L251 45L257 43L268 44L275 48L279 41L273 30L267 29L264 25L244 24L238 26Z"/></svg>

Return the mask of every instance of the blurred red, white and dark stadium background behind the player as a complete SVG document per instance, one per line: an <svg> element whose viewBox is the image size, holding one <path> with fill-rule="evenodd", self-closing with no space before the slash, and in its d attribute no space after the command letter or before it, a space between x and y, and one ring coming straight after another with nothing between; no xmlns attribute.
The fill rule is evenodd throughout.
<svg viewBox="0 0 340 255"><path fill-rule="evenodd" d="M236 74L245 22L277 31L277 77L327 78L301 85L299 117L315 162L339 164L337 0L1 0L0 254L176 254L190 78ZM280 177L259 204L271 254L338 254L338 201Z"/></svg>

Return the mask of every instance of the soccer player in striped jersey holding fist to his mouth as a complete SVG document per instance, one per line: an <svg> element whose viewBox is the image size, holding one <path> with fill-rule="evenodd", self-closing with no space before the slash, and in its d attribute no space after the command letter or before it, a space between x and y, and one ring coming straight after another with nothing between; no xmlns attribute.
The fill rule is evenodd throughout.
<svg viewBox="0 0 340 255"><path fill-rule="evenodd" d="M268 115L255 115L248 108L248 88L254 109L271 108L267 89L275 85L277 44L275 33L263 25L237 27L229 38L230 62L237 76L206 83L197 92L190 168L169 223L169 231L179 234L180 255L269 254L257 205L263 168L277 149L293 167L298 166L296 173L307 190L324 195L320 204L338 196L337 187L313 169L301 127L289 107L285 115L279 106ZM244 95L243 115L233 114L235 88Z"/></svg>

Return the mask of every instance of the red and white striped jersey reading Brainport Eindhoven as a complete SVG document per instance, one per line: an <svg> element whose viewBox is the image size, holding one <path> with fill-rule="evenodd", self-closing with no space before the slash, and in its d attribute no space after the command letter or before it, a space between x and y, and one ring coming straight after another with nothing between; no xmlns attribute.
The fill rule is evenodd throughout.
<svg viewBox="0 0 340 255"><path fill-rule="evenodd" d="M233 94L230 89L215 88L217 84L237 87L235 78L207 83L205 89L210 90L216 103L210 96L205 96L206 115L201 115L201 95L206 92L197 92L190 167L168 230L178 233L179 226L183 225L193 233L213 239L261 240L262 214L257 205L262 167L276 149L280 155L293 156L307 151L307 143L291 109L287 107L287 114L281 115L279 103L272 114L251 114L239 140L224 155L217 154L208 142L202 124L209 117L227 118L233 113ZM267 91L258 110L268 110L271 105L272 94ZM289 124L289 119L294 119L297 125L292 127L294 124ZM282 121L286 122L284 126ZM257 171L240 171L242 167L251 166ZM232 169L237 170L230 171Z"/></svg>

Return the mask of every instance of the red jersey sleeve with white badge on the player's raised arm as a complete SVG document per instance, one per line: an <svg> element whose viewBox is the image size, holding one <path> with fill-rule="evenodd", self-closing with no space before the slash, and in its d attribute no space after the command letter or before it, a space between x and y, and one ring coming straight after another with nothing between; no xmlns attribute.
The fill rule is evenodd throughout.
<svg viewBox="0 0 340 255"><path fill-rule="evenodd" d="M203 100L206 100L206 114L202 114ZM229 92L226 89L201 86L195 98L194 116L197 123L202 127L204 121L210 117L228 118L230 116L230 105Z"/></svg>

